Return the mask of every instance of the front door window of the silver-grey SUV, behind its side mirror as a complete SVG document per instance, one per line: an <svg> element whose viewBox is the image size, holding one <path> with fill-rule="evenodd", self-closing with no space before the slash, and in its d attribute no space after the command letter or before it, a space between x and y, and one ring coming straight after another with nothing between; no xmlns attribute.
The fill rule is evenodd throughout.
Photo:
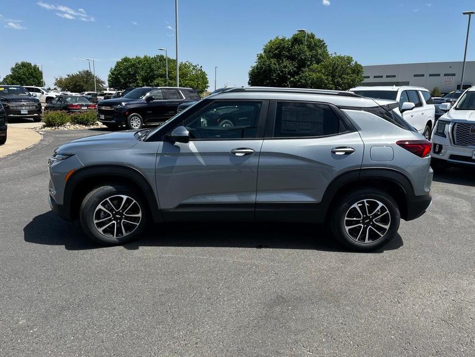
<svg viewBox="0 0 475 357"><path fill-rule="evenodd" d="M184 122L191 139L255 138L262 102L215 102Z"/></svg>

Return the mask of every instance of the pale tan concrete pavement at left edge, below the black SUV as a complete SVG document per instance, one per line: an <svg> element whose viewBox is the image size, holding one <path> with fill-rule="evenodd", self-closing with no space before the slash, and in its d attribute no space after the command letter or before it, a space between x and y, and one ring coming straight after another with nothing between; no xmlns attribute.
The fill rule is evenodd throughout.
<svg viewBox="0 0 475 357"><path fill-rule="evenodd" d="M33 129L41 123L14 123L8 124L7 142L0 145L0 157L26 149L40 141L42 136Z"/></svg>

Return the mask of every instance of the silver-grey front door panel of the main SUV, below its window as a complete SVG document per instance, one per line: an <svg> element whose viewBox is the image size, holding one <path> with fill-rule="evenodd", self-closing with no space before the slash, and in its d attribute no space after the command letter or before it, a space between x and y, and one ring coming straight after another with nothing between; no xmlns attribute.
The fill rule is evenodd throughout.
<svg viewBox="0 0 475 357"><path fill-rule="evenodd" d="M253 220L261 146L262 139L163 142L156 166L162 210L180 205L248 203L246 218ZM254 152L242 156L232 153L238 148Z"/></svg>

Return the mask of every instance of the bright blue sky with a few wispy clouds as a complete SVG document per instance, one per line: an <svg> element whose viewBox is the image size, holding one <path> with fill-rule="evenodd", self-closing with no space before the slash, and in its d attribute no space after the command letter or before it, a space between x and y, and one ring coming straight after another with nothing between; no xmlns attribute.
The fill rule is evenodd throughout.
<svg viewBox="0 0 475 357"><path fill-rule="evenodd" d="M151 0L0 0L0 77L18 61L42 64L54 77L87 68L96 73L124 56L175 57L175 2ZM306 28L330 52L363 65L463 59L467 16L473 0L179 0L180 61L203 66L214 89L246 85L263 45ZM475 19L473 19L475 20ZM475 59L475 21L468 60Z"/></svg>

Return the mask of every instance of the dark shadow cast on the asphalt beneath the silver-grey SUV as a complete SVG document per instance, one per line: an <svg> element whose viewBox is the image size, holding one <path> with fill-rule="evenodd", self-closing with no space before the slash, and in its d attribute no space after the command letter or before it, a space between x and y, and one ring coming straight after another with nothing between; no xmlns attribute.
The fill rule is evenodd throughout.
<svg viewBox="0 0 475 357"><path fill-rule="evenodd" d="M26 242L64 245L69 251L103 248L91 243L79 222L66 222L49 211L36 216L23 229ZM125 249L141 246L236 247L256 249L307 249L349 252L328 233L326 227L303 223L162 223L150 224L142 238L124 244ZM400 235L372 253L383 253L403 246Z"/></svg>

